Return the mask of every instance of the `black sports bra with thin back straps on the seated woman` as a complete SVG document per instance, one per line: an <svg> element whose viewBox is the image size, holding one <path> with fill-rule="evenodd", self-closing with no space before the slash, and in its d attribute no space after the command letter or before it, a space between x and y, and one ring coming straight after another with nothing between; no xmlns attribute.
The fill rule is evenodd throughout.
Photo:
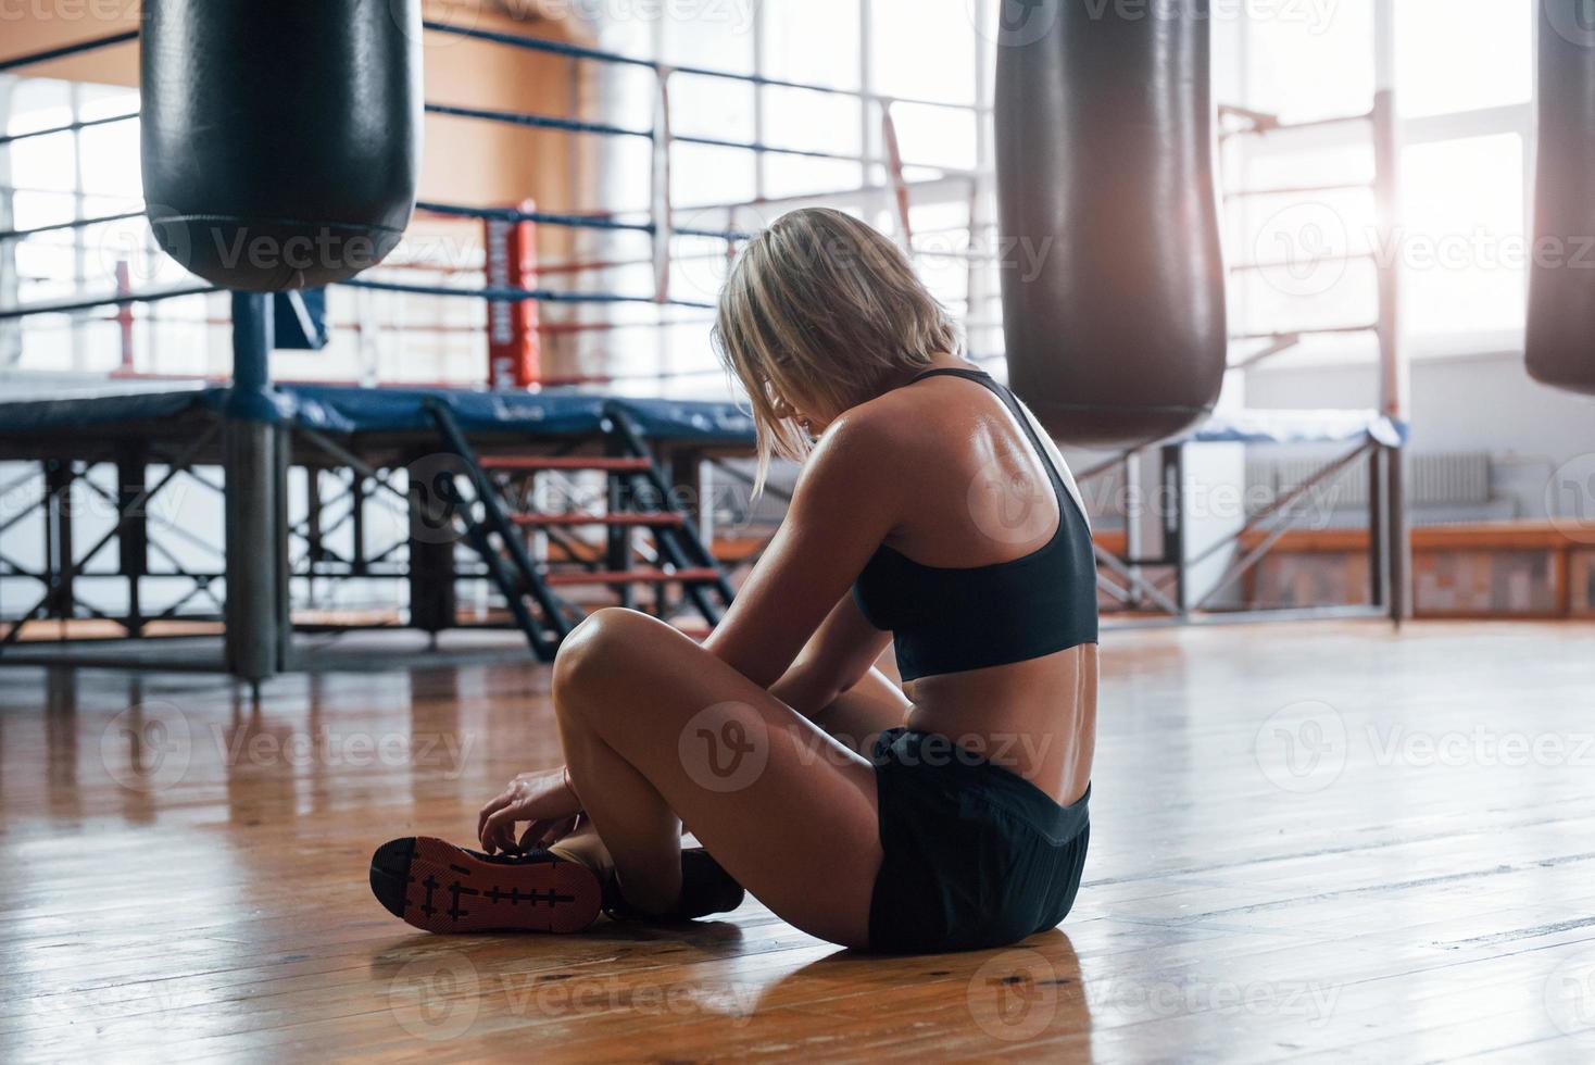
<svg viewBox="0 0 1595 1065"><path fill-rule="evenodd" d="M975 381L1013 413L1057 496L1057 532L1006 563L925 566L882 544L853 582L853 599L876 628L890 630L904 681L1040 658L1097 641L1091 529L1013 392L978 370L931 370Z"/></svg>

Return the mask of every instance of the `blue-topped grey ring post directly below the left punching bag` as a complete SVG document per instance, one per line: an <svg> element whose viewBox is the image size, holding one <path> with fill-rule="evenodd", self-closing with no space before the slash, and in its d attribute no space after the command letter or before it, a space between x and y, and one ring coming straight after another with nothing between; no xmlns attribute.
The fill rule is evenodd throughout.
<svg viewBox="0 0 1595 1065"><path fill-rule="evenodd" d="M271 397L271 297L233 293L233 386L226 435L226 670L258 690L289 650L281 604L284 456Z"/></svg>

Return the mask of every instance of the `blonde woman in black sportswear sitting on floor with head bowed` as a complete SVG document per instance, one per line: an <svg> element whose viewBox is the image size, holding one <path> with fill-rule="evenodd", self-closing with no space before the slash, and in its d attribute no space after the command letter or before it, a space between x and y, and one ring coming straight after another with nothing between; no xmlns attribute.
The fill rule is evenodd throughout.
<svg viewBox="0 0 1595 1065"><path fill-rule="evenodd" d="M1097 698L1062 458L845 214L750 241L715 333L759 483L772 456L804 462L769 550L702 646L633 611L587 619L553 663L566 767L482 808L485 853L384 845L376 896L431 931L702 917L738 885L849 947L1051 928L1080 886ZM901 687L874 668L893 639ZM683 851L683 823L707 853Z"/></svg>

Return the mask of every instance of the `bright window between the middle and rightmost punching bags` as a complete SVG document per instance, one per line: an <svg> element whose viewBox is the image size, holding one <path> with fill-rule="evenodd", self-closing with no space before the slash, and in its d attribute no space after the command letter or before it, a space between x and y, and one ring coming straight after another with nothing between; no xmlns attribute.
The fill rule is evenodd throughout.
<svg viewBox="0 0 1595 1065"><path fill-rule="evenodd" d="M1246 102L1287 123L1365 113L1381 26L1392 26L1402 204L1394 239L1380 246L1365 193L1231 201L1225 239L1231 263L1268 258L1258 241L1308 238L1353 255L1391 257L1400 269L1404 332L1415 356L1458 344L1499 348L1525 317L1526 151L1533 137L1533 0L1362 0L1325 8L1325 26L1254 18L1246 33ZM1381 10L1391 22L1375 18ZM1284 8L1279 8L1281 11ZM1303 8L1305 11L1306 8ZM1316 187L1373 179L1365 123L1322 126L1292 137L1247 139L1227 153L1230 188ZM1313 217L1317 212L1317 218ZM1327 223L1325 223L1327 220ZM1324 225L1321 225L1324 223ZM1270 234L1271 230L1276 233ZM1233 277L1239 328L1373 320L1373 263L1319 269L1313 292L1302 271ZM1335 284L1322 284L1332 277ZM1369 352L1365 343L1343 351ZM1292 356L1294 357L1294 356Z"/></svg>

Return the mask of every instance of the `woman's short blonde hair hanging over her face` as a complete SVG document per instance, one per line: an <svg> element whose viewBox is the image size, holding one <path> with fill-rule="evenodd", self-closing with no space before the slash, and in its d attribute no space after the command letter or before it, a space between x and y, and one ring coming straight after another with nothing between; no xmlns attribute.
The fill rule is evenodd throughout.
<svg viewBox="0 0 1595 1065"><path fill-rule="evenodd" d="M841 413L962 346L908 255L829 207L785 214L748 242L719 295L713 341L753 405L754 493L772 456L809 453L804 432L775 413L777 397Z"/></svg>

